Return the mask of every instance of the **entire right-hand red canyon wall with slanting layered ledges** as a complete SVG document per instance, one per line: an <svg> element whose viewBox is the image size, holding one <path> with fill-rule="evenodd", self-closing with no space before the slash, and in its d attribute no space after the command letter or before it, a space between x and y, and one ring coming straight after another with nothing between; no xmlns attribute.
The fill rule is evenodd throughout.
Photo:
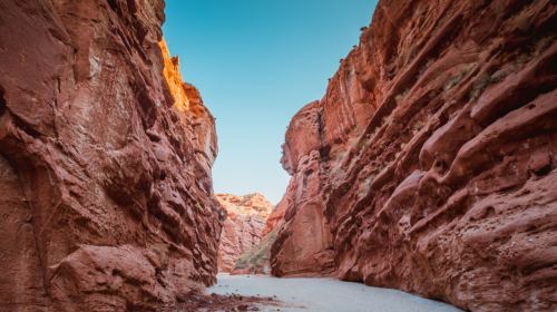
<svg viewBox="0 0 557 312"><path fill-rule="evenodd" d="M273 273L557 309L555 1L379 1L291 121Z"/></svg>

